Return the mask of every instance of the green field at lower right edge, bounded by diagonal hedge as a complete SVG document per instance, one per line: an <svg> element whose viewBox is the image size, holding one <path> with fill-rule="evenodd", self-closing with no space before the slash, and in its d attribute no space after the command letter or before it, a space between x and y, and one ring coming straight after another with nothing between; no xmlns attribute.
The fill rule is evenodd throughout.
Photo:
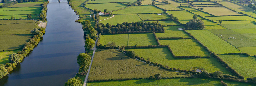
<svg viewBox="0 0 256 86"><path fill-rule="evenodd" d="M256 58L245 55L219 55L219 57L245 78L256 76Z"/></svg>

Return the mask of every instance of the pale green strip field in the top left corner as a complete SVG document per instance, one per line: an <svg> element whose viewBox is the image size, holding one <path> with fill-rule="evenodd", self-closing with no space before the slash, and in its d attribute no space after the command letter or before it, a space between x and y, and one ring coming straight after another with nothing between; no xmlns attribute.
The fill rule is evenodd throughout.
<svg viewBox="0 0 256 86"><path fill-rule="evenodd" d="M27 2L27 3L17 3L12 6L8 6L6 8L11 8L11 7L41 7L41 4L44 2Z"/></svg>

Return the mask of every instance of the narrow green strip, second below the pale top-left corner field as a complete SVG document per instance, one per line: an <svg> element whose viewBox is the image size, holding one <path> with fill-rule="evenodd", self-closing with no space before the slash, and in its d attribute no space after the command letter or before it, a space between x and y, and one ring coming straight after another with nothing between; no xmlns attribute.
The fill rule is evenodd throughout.
<svg viewBox="0 0 256 86"><path fill-rule="evenodd" d="M0 11L0 15L28 15L39 14L41 10L17 10L17 11Z"/></svg>

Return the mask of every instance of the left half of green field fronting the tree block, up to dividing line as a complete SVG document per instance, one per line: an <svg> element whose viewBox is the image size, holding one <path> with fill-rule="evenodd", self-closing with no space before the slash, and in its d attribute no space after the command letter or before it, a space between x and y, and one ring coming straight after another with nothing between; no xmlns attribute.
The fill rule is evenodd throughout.
<svg viewBox="0 0 256 86"><path fill-rule="evenodd" d="M115 42L117 46L127 46L128 34L101 35L100 44L107 45L108 42Z"/></svg>

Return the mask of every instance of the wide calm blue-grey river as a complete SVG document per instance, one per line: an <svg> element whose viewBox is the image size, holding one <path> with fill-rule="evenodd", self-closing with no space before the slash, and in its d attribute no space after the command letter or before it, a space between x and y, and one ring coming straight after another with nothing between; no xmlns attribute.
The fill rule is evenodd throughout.
<svg viewBox="0 0 256 86"><path fill-rule="evenodd" d="M67 0L50 0L46 33L37 47L7 77L1 86L63 86L79 66L76 57L84 53L82 25Z"/></svg>

